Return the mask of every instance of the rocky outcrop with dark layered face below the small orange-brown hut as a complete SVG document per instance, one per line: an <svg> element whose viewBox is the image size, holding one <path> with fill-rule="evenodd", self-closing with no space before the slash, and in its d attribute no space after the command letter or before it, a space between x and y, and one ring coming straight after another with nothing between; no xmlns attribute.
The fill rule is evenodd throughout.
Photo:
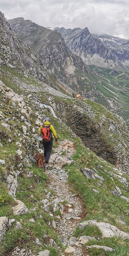
<svg viewBox="0 0 129 256"><path fill-rule="evenodd" d="M129 132L123 118L89 100L77 105L65 107L65 102L59 102L59 115L66 119L87 148L129 172Z"/></svg>

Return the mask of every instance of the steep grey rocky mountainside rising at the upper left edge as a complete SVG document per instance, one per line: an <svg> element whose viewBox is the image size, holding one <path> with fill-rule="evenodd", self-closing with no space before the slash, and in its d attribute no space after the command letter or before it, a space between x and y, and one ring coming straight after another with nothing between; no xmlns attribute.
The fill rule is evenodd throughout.
<svg viewBox="0 0 129 256"><path fill-rule="evenodd" d="M12 32L9 23L0 12L0 65L8 65L21 73L30 73L44 82L49 81L49 73L36 54L20 42Z"/></svg>

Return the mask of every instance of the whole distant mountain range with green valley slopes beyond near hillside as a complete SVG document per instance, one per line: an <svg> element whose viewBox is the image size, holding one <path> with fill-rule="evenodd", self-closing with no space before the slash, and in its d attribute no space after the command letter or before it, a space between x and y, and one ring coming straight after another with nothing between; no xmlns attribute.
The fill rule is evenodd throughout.
<svg viewBox="0 0 129 256"><path fill-rule="evenodd" d="M36 53L50 72L52 84L55 79L56 86L58 81L59 87L73 96L80 93L108 109L119 109L118 114L129 123L129 72L127 67L124 71L121 70L128 60L124 61L124 57L123 62L120 61L111 52L111 45L108 45L109 49L106 47L107 41L104 38L107 35L98 38L90 34L88 28L48 29L24 18L15 18L8 22L18 38ZM112 37L114 39L111 40L110 36L107 37L111 44L114 40L119 47L124 43L128 46L125 39ZM84 53L84 49L87 49L88 54ZM84 62L93 64L93 60L96 61L93 62L96 66L101 64L104 68L87 66ZM112 69L107 68L111 65Z"/></svg>

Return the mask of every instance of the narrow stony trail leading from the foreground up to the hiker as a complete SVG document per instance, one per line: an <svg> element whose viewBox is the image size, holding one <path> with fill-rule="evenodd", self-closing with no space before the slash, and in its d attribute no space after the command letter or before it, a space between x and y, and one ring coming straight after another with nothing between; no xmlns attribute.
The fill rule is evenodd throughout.
<svg viewBox="0 0 129 256"><path fill-rule="evenodd" d="M42 149L41 149L42 151ZM50 164L46 167L45 173L48 176L47 188L45 189L45 199L42 200L44 206L44 211L49 213L51 217L53 217L53 213L59 210L61 212L61 217L58 215L56 217L56 221L53 219L52 228L57 232L60 241L67 248L65 249L65 253L69 253L69 255L81 256L82 254L82 244L81 239L76 238L73 235L75 228L78 226L78 223L84 218L85 214L83 213L83 202L81 197L78 194L72 194L71 188L68 185L68 174L65 169L62 169L63 161L67 161L67 163L71 163L71 156L75 153L75 149L73 147L73 142L63 141L60 142L59 148L54 150L54 154L51 154ZM61 156L63 152L65 156ZM62 158L62 159L61 159ZM54 164L53 159L57 162ZM61 161L62 160L62 161ZM53 166L53 169L50 167ZM29 176L28 176L29 178ZM55 196L52 196L50 191L54 191ZM52 206L52 211L50 207ZM31 220L32 221L32 220ZM34 220L33 220L34 221ZM44 234L44 236L47 235ZM41 244L40 240L37 238L37 244ZM53 239L50 239L50 245L55 245L56 248L60 251L61 256L65 256L66 254L61 252L61 248L55 243ZM40 256L49 256L49 250L44 250L39 253ZM71 254L72 253L72 254ZM33 256L33 252L31 250L27 251L26 249L19 249L17 246L13 251L8 252L6 255L8 256Z"/></svg>

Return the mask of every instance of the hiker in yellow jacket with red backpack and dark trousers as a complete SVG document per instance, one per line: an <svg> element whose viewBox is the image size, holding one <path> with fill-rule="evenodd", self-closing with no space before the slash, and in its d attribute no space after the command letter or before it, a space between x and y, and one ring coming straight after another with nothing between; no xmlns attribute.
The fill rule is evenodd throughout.
<svg viewBox="0 0 129 256"><path fill-rule="evenodd" d="M43 140L40 141L40 143L43 142L44 146L44 157L45 157L45 162L48 164L49 157L51 154L51 149L52 149L52 144L53 144L53 137L52 134L56 140L57 143L57 134L55 132L55 129L52 124L50 124L50 118L46 117L44 120L44 124L40 126L39 129L39 135L43 137Z"/></svg>

